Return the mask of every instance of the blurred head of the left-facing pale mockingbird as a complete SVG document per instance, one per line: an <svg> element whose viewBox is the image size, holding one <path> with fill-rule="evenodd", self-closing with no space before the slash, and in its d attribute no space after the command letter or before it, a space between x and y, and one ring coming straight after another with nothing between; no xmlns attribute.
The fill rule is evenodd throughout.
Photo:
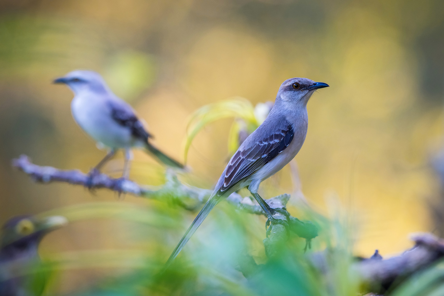
<svg viewBox="0 0 444 296"><path fill-rule="evenodd" d="M74 94L81 92L109 92L105 80L99 73L87 70L75 70L69 72L67 75L57 78L54 83L66 84Z"/></svg>

